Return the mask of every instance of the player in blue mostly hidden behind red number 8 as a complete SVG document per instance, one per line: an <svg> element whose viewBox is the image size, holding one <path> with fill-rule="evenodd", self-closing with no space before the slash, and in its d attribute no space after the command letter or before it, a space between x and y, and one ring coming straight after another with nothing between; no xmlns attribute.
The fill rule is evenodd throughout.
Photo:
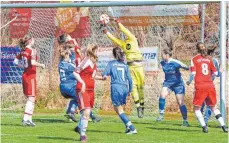
<svg viewBox="0 0 229 143"><path fill-rule="evenodd" d="M213 56L215 48L216 48L216 46L214 46L212 49L208 49L208 55L209 56ZM216 70L217 70L217 73L218 73L217 75L215 75L215 74L212 75L212 80L214 80L215 77L220 77L221 71L220 71L220 65L219 65L218 60L216 58L212 57L212 61L214 63L214 66L216 67ZM191 82L193 81L193 79L194 79L194 74L191 73L190 76L189 76L189 80L186 82L186 84L190 85ZM205 102L203 103L203 105L201 107L202 114L204 113L204 107L205 107ZM206 110L205 110L205 114L204 114L204 121L205 121L206 124L208 123L208 120L210 119L211 115L212 115L211 107L207 106Z"/></svg>

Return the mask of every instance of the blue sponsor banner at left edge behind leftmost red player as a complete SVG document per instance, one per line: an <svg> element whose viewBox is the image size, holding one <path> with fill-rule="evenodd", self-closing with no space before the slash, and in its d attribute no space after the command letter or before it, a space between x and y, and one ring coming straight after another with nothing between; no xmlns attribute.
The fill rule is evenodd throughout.
<svg viewBox="0 0 229 143"><path fill-rule="evenodd" d="M14 58L20 53L19 47L1 47L1 83L21 83L24 71L14 65Z"/></svg>

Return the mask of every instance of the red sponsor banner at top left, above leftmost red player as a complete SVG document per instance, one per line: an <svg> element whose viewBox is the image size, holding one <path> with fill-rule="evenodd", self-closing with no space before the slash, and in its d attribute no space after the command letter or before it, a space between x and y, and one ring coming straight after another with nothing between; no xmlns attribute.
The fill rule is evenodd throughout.
<svg viewBox="0 0 229 143"><path fill-rule="evenodd" d="M10 20L14 19L18 13L17 19L10 23L10 38L22 38L27 34L31 19L30 8L10 9Z"/></svg>

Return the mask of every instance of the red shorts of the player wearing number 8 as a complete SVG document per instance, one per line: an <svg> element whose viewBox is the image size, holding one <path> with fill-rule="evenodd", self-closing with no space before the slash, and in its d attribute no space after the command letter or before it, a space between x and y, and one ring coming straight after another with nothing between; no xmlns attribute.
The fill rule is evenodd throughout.
<svg viewBox="0 0 229 143"><path fill-rule="evenodd" d="M217 99L215 88L196 89L193 105L201 107L204 101L206 102L207 106L216 105Z"/></svg>

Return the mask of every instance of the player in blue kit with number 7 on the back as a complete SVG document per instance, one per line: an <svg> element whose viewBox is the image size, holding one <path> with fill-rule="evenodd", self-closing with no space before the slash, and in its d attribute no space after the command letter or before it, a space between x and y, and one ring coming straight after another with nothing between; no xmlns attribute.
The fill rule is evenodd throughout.
<svg viewBox="0 0 229 143"><path fill-rule="evenodd" d="M110 61L103 72L103 77L111 76L111 100L116 113L126 127L126 134L136 134L137 130L127 118L123 111L126 104L126 97L132 91L132 79L128 66L124 63L124 53L118 47L113 49L113 56L116 60Z"/></svg>

